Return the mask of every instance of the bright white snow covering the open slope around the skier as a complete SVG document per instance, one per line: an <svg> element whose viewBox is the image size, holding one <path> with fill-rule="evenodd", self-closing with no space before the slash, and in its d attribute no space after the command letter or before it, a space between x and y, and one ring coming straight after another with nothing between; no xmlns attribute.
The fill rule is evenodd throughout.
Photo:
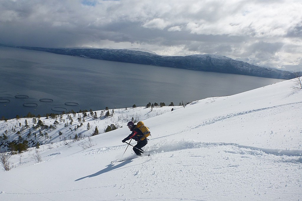
<svg viewBox="0 0 302 201"><path fill-rule="evenodd" d="M52 144L11 156L13 168L0 171L0 199L301 200L302 90L293 85L283 81L173 111L115 109L115 120L87 117L77 131L75 120L72 131L60 122L48 133ZM149 157L135 157L130 146L123 155L132 117L150 128L143 148ZM18 121L24 125L25 119L1 122L1 132ZM123 127L93 136L95 145L85 150L79 144L87 138L56 142L58 131L87 136L114 121ZM88 122L92 128L85 131ZM116 159L128 160L111 163Z"/></svg>

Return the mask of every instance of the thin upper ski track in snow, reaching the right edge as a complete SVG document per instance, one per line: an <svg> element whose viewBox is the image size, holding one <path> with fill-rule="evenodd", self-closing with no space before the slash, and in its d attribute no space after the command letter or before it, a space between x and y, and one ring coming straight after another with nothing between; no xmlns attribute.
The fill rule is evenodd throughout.
<svg viewBox="0 0 302 201"><path fill-rule="evenodd" d="M260 108L260 109L248 110L248 111L243 111L243 112L238 112L238 113L231 113L231 114L228 114L226 116L218 116L218 117L214 117L213 119L209 119L208 121L202 122L202 124L197 125L197 126L191 128L191 129L199 128L201 126L210 125L210 124L216 123L218 121L223 121L225 119L229 119L229 118L240 116L240 115L245 115L245 114L249 114L249 113L259 112L259 111L263 111L263 110L270 110L270 109L273 109L273 108L283 107L283 106L287 106L287 105L301 104L301 103L302 103L302 101L301 102L296 102L296 103L288 103L288 104L276 105L276 106L271 106L271 107L264 107L264 108Z"/></svg>

